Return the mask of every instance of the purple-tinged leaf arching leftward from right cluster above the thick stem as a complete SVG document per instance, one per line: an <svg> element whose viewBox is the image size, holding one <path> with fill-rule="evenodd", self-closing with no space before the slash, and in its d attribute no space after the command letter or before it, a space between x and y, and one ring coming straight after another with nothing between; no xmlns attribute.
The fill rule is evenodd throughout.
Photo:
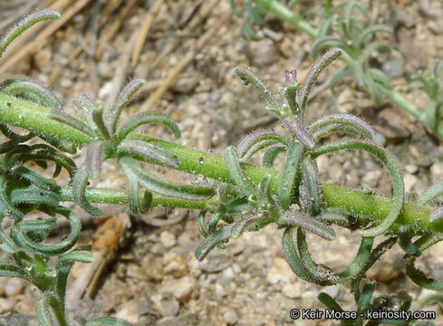
<svg viewBox="0 0 443 326"><path fill-rule="evenodd" d="M260 149L281 144L284 147L288 142L284 137L267 130L255 130L242 138L236 147L241 162L246 162Z"/></svg>

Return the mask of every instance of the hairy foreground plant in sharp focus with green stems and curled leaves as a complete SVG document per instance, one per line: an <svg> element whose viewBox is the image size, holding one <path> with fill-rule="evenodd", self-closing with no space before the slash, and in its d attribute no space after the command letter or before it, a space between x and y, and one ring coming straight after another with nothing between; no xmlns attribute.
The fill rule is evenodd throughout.
<svg viewBox="0 0 443 326"><path fill-rule="evenodd" d="M26 16L2 39L0 54L26 28L56 17L58 13L52 10ZM266 110L278 117L287 133L255 130L236 147L228 147L224 158L135 132L141 125L160 123L179 138L178 125L165 114L144 112L120 122L120 113L140 89L141 80L129 82L106 110L82 94L74 105L82 110L84 117L63 110L51 91L31 79L14 77L2 82L0 131L9 140L0 146L0 248L10 260L0 263L0 276L21 277L34 283L40 290L35 306L42 325L53 325L55 321L67 325L64 298L68 274L75 262L87 263L92 259L89 247L75 247L81 223L61 204L70 201L92 216L101 215L101 210L93 206L97 203L124 204L133 214L144 213L150 206L198 209L197 225L206 237L196 250L200 261L214 247L223 248L230 239L246 231L258 231L274 223L284 228L284 257L294 273L323 286L351 283L359 312L392 309L395 307L392 302L401 302L400 307L409 310L410 298L403 294L397 296L400 299L383 297L371 302L374 283L364 281L371 265L395 243L405 251L406 273L414 283L429 289L443 289L441 281L430 279L414 265L420 254L443 239L442 209L427 206L443 194L443 183L430 187L415 203L407 203L397 159L373 142L375 133L368 123L349 114L332 114L310 125L304 123L313 85L320 73L341 55L340 49L323 54L303 82L298 82L296 71L284 72L285 86L277 92L250 69L236 68L242 81L265 98ZM28 133L17 134L11 126L26 129ZM331 135L337 135L340 140L330 141ZM27 143L35 137L52 146ZM77 167L65 153L81 147L86 148L86 159ZM249 164L250 158L262 149L265 151L262 165ZM316 159L343 149L366 151L378 158L390 174L393 196L379 197L323 183L318 176ZM274 160L279 154L284 155L280 171L274 169ZM116 158L128 177L127 190L88 186L89 178L98 177L102 163L109 158ZM50 168L48 162L55 163L53 178L35 172L26 165L30 161L43 169ZM213 179L214 187L168 183L148 174L138 161L201 174ZM71 178L64 186L56 179L62 168ZM145 190L140 191L140 186ZM41 213L37 219L27 218L36 212ZM57 216L69 220L71 233L54 245L47 237L57 227ZM313 261L306 239L306 233L313 233L332 241L333 225L351 229L361 236L356 257L339 273ZM387 238L373 247L379 235ZM418 238L413 241L414 237ZM322 293L319 298L326 306L341 309L327 294ZM419 302L419 308L430 301L443 302L443 299L433 295ZM343 323L361 325L364 321L361 318ZM405 321L406 324L414 322ZM101 318L86 325L109 324L128 325L128 322ZM377 322L366 323L373 324Z"/></svg>

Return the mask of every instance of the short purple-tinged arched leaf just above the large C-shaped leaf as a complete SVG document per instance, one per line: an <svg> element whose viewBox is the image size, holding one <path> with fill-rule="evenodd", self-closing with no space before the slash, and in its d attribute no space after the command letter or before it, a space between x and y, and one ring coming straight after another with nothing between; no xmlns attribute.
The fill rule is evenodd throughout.
<svg viewBox="0 0 443 326"><path fill-rule="evenodd" d="M343 129L340 129L343 126ZM349 128L351 127L351 129ZM327 135L329 131L346 131L359 130L361 134L373 139L375 137L375 130L371 125L352 114L332 114L314 121L309 129L313 133L315 139L320 139Z"/></svg>

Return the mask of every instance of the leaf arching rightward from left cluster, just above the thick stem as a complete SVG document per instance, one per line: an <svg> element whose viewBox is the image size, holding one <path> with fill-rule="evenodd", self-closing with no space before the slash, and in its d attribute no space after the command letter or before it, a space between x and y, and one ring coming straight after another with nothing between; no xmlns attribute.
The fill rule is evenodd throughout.
<svg viewBox="0 0 443 326"><path fill-rule="evenodd" d="M125 139L131 131L139 128L145 124L160 123L168 127L174 133L176 139L181 136L180 129L176 121L169 117L168 114L161 112L143 112L140 113L130 120L126 121L119 130L119 139Z"/></svg>

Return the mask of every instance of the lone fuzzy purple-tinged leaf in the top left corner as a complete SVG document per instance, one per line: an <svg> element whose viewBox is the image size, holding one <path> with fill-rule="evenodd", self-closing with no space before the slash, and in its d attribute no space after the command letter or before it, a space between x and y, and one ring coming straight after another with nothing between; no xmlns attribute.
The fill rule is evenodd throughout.
<svg viewBox="0 0 443 326"><path fill-rule="evenodd" d="M34 24L45 20L52 20L60 18L59 12L53 9L42 9L34 12L33 14L25 15L20 22L14 24L5 37L2 38L0 43L0 57L5 52L6 48L11 44L20 34L23 34L25 30L32 27Z"/></svg>

